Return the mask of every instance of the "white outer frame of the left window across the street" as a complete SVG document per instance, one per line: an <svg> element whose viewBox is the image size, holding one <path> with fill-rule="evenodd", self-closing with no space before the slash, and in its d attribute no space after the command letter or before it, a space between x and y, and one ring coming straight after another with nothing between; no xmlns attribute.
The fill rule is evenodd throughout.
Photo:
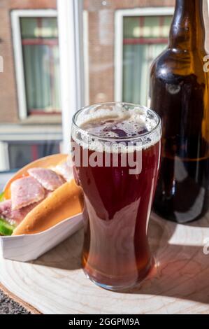
<svg viewBox="0 0 209 329"><path fill-rule="evenodd" d="M11 23L13 33L13 49L15 57L15 73L17 85L17 100L19 109L19 118L24 120L27 118L27 99L24 80L24 63L22 55L22 39L20 31L20 18L29 17L50 17L57 18L57 10L55 9L21 9L11 11Z"/></svg>

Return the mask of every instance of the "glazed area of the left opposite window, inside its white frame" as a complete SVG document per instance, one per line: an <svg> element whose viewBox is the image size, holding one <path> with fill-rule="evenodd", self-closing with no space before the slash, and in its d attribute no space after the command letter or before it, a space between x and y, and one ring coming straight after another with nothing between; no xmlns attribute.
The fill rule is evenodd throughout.
<svg viewBox="0 0 209 329"><path fill-rule="evenodd" d="M27 109L60 112L57 18L21 18Z"/></svg>

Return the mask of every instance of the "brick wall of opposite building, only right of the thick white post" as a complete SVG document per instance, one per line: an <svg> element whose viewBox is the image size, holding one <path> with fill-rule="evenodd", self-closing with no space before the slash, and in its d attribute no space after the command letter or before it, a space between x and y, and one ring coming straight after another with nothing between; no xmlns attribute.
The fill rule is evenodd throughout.
<svg viewBox="0 0 209 329"><path fill-rule="evenodd" d="M89 19L89 103L114 100L115 10L174 6L175 0L85 0ZM203 0L206 41L209 45L207 0ZM104 36L102 31L106 31ZM209 50L209 46L208 46Z"/></svg>

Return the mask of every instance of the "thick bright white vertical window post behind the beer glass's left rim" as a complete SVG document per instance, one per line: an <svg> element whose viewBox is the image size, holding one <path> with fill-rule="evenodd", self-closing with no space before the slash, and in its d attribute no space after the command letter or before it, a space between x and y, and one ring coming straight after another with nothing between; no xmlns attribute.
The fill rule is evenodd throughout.
<svg viewBox="0 0 209 329"><path fill-rule="evenodd" d="M70 152L73 114L85 105L82 0L57 0L63 151Z"/></svg>

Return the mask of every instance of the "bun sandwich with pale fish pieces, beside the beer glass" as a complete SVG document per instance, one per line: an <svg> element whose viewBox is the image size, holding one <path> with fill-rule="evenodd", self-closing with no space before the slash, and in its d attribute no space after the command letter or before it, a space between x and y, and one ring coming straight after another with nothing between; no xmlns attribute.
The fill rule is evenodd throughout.
<svg viewBox="0 0 209 329"><path fill-rule="evenodd" d="M82 189L69 157L50 155L23 167L0 195L0 235L35 234L82 212Z"/></svg>

